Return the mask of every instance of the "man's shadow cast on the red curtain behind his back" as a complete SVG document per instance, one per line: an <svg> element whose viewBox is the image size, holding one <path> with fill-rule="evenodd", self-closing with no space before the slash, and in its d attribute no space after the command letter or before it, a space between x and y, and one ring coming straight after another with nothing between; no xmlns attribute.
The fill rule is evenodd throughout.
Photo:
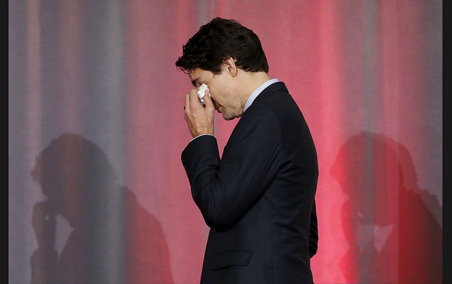
<svg viewBox="0 0 452 284"><path fill-rule="evenodd" d="M442 206L417 186L401 143L361 132L340 148L330 174L349 197L341 213L347 282L442 283Z"/></svg>

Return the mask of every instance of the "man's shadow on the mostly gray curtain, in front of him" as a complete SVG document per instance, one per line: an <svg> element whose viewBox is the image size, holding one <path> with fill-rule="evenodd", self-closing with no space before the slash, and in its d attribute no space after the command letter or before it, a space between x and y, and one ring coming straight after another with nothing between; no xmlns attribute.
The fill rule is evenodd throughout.
<svg viewBox="0 0 452 284"><path fill-rule="evenodd" d="M32 283L173 283L159 221L117 183L99 146L63 134L36 157L31 175L47 196L33 209ZM60 256L58 214L73 230Z"/></svg>

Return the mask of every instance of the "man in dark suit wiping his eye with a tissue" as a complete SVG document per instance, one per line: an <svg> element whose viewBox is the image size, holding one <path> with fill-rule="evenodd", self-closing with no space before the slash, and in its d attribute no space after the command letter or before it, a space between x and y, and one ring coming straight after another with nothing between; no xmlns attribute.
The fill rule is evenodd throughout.
<svg viewBox="0 0 452 284"><path fill-rule="evenodd" d="M313 283L317 251L313 139L285 84L271 79L259 37L238 21L201 26L176 66L194 87L185 96L193 139L181 159L191 195L210 227L203 283ZM241 117L219 157L215 110Z"/></svg>

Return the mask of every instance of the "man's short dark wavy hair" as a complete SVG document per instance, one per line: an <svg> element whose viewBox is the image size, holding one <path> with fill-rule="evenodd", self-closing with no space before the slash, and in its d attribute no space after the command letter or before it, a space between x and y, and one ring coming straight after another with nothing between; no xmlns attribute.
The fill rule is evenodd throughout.
<svg viewBox="0 0 452 284"><path fill-rule="evenodd" d="M232 57L243 71L268 73L268 63L259 37L234 19L213 18L202 25L186 44L175 65L188 74L195 68L220 74L225 59Z"/></svg>

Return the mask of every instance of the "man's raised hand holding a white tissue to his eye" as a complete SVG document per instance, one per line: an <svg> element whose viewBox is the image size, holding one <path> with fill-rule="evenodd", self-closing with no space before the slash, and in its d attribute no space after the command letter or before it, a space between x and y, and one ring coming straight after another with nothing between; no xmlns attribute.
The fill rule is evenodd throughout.
<svg viewBox="0 0 452 284"><path fill-rule="evenodd" d="M207 90L205 91L204 102L205 107L199 101L197 89L191 89L190 93L185 95L184 118L193 138L201 134L213 135L215 107Z"/></svg>

